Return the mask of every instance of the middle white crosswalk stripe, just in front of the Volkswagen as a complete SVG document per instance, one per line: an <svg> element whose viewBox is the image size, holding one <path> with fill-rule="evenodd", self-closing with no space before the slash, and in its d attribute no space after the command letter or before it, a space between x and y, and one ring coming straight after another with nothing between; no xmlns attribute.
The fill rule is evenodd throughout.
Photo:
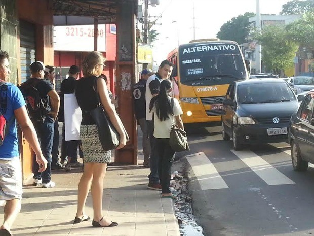
<svg viewBox="0 0 314 236"><path fill-rule="evenodd" d="M251 151L234 151L235 155L239 157L252 171L254 171L263 181L268 185L282 185L295 184L291 179L282 174L272 165L268 164L260 156Z"/></svg>

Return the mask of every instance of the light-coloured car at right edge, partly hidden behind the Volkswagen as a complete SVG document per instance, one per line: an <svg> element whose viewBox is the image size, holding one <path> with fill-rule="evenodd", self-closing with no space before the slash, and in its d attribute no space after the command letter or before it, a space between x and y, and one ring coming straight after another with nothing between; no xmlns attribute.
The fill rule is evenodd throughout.
<svg viewBox="0 0 314 236"><path fill-rule="evenodd" d="M295 94L308 92L314 89L314 77L311 76L294 76L289 77L288 84L292 87Z"/></svg>

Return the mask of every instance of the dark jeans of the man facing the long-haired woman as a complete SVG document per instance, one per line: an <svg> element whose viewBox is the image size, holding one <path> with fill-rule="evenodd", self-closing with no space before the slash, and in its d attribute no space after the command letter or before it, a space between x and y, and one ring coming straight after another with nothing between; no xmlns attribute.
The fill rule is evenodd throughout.
<svg viewBox="0 0 314 236"><path fill-rule="evenodd" d="M156 150L155 150L155 142L153 138L153 133L154 133L154 121L147 120L147 128L148 128L148 137L149 137L149 142L150 142L150 174L148 176L149 178L149 183L151 184L159 184L159 175L158 175L158 166L159 166L159 156L156 155Z"/></svg>

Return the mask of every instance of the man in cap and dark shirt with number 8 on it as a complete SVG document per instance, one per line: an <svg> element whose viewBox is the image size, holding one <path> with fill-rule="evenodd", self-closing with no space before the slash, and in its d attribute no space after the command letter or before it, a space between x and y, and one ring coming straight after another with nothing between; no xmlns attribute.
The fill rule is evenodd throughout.
<svg viewBox="0 0 314 236"><path fill-rule="evenodd" d="M150 144L148 140L148 130L146 124L146 102L145 102L145 91L147 79L153 75L150 69L145 69L141 73L141 79L133 86L133 100L134 100L134 111L135 117L141 127L143 137L142 146L144 154L144 167L149 168L149 155L150 155Z"/></svg>

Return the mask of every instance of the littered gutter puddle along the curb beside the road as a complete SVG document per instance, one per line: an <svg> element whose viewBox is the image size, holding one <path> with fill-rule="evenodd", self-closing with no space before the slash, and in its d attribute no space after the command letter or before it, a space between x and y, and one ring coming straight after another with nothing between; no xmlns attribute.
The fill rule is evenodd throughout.
<svg viewBox="0 0 314 236"><path fill-rule="evenodd" d="M191 198L188 196L186 189L187 180L177 172L172 174L172 179L173 193L179 197L174 201L174 206L181 236L204 236L203 228L197 224L193 216Z"/></svg>

